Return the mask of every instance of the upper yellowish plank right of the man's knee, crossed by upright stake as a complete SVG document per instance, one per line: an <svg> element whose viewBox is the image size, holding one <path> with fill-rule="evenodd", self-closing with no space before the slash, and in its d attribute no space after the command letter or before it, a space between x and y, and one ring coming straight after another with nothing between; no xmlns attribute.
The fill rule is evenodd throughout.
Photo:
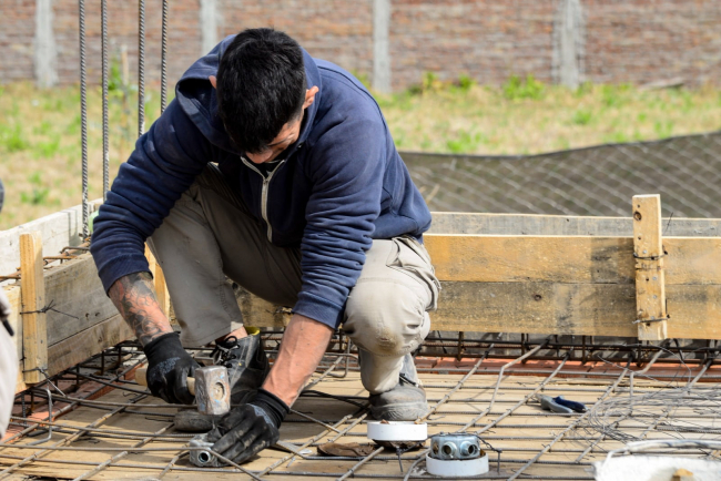
<svg viewBox="0 0 721 481"><path fill-rule="evenodd" d="M631 237L428 234L424 239L440 280L636 282ZM721 238L664 237L663 244L667 285L721 285Z"/></svg>

